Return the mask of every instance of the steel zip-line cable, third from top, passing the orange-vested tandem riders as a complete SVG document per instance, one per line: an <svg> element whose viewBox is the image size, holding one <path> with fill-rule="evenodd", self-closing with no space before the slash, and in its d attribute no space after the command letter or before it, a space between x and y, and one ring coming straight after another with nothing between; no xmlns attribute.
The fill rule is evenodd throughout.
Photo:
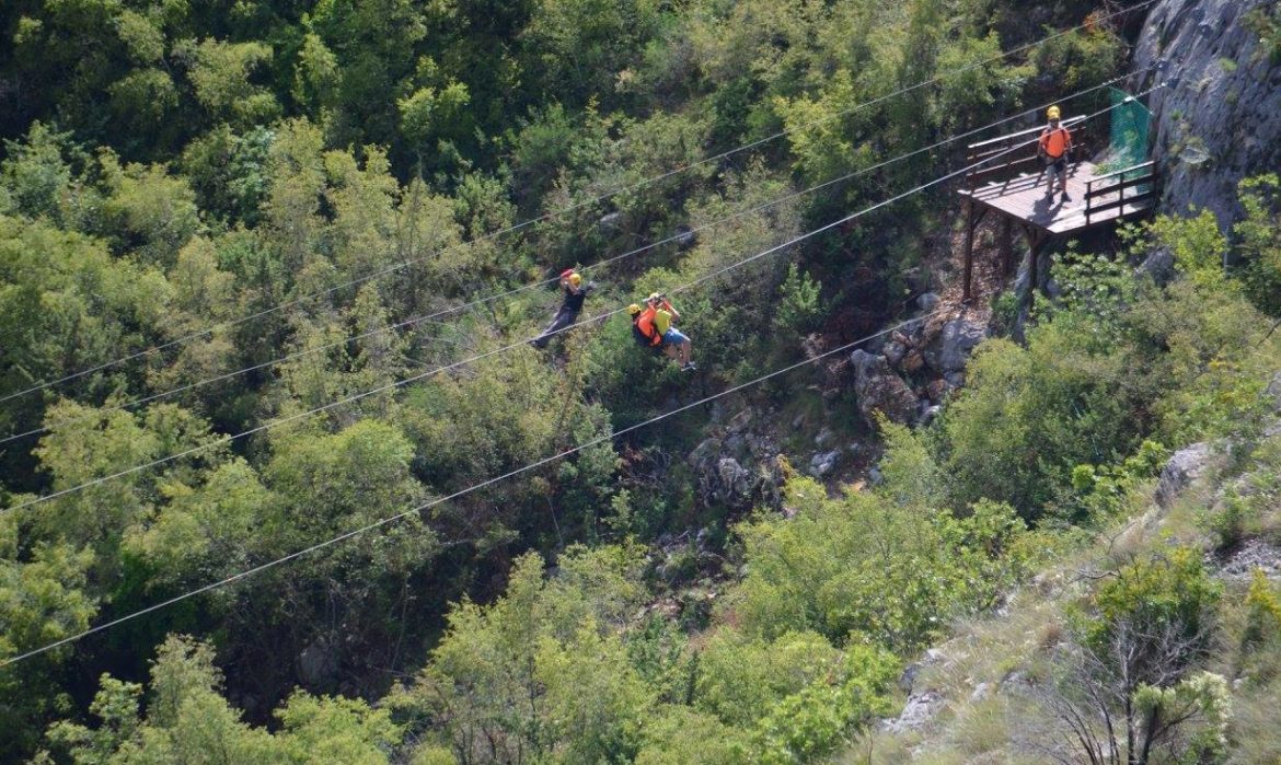
<svg viewBox="0 0 1281 765"><path fill-rule="evenodd" d="M1135 97L1135 99L1143 97L1143 96L1145 96L1145 95L1148 95L1148 94L1150 94L1150 92L1153 92L1153 91L1155 91L1158 88L1162 88L1162 87L1166 87L1166 83L1163 81L1159 82L1158 85L1155 85L1155 86L1153 86L1153 87L1150 87L1150 88L1140 92L1140 94L1136 94L1132 97ZM1117 109L1118 106L1121 106L1123 103L1125 101L1121 101L1118 104L1113 104L1111 106L1100 109L1100 110L1098 110L1098 111L1095 111L1093 114L1089 114L1081 122L1082 123L1084 122L1089 122L1091 119L1098 118L1102 114L1107 114L1108 111L1112 111L1113 109ZM724 274L724 273L730 272L730 270L733 270L735 268L740 268L743 265L747 265L748 263L753 263L756 260L760 260L761 258L765 258L767 255L778 252L779 250L784 250L784 249L792 247L792 246L794 246L794 245L797 245L799 242L803 242L803 241L806 241L806 240L808 240L811 237L815 237L815 236L817 236L817 234L820 234L820 233L822 233L825 231L830 231L830 229L833 229L833 228L835 228L838 226L842 226L844 223L848 223L848 222L851 222L851 220L853 220L856 218L861 218L861 217L867 215L867 214L870 214L870 213L872 213L875 210L879 210L881 208L892 205L892 204L894 204L894 202L897 202L899 200L907 199L908 196L920 193L920 192L922 192L922 191L925 191L927 188L938 186L939 183L945 183L947 181L951 181L952 178L963 176L963 174L966 174L966 173L968 173L968 172L971 172L974 169L977 169L977 168L988 164L988 163L995 161L995 160L998 160L998 159L1000 159L1000 158L1003 158L1003 156L1006 156L1008 154L1013 154L1015 151L1020 151L1022 149L1026 149L1026 147L1036 144L1036 141L1038 141L1038 138L1031 138L1029 141L1025 141L1025 142L1021 142L1021 144L1016 144L1016 145L1011 146L1009 149L1007 149L1007 150L1004 150L1004 151L1002 151L999 154L994 154L993 156L989 156L989 158L985 158L985 159L983 159L980 161L976 161L974 164L966 165L966 167L963 167L963 168L961 168L958 170L953 170L953 172L947 173L944 176L940 176L940 177L938 177L938 178L935 178L933 181L927 181L927 182L925 182L925 183L922 183L920 186L910 188L908 191L901 192L901 193L898 193L895 196L892 196L892 197L889 197L886 200L883 200L880 202L876 202L876 204L872 204L870 206L866 206L866 208L863 208L863 209L861 209L861 210L858 210L856 213L851 213L849 215L844 215L842 218L838 218L836 220L826 223L826 224L824 224L824 226L821 226L819 228L815 228L815 229L811 229L811 231L808 231L806 233L798 234L798 236L788 240L787 242L783 242L780 245L775 245L772 247L762 250L761 252L757 252L755 255L744 258L743 260L738 260L735 263L731 263L730 265L726 265L726 267L720 268L717 270L714 270L714 272L711 272L708 274L698 277L697 279L694 279L692 282L688 282L688 283L685 283L685 284L683 284L680 287L676 287L676 288L671 290L671 292L673 293L684 292L685 290L689 290L690 287L701 284L701 283L703 283L703 282L706 282L706 281L708 281L711 278L715 278L715 277L717 277L720 274ZM620 313L623 313L625 310L626 310L625 308L617 308L617 309L614 309L611 311L606 311L603 314L597 314L594 317L591 317L589 319L587 319L587 322L589 323L589 322L597 322L597 320L601 320L601 319L607 319L607 318L610 318L610 317L612 317L615 314L620 314ZM569 329L573 329L575 325L576 324L571 324L569 327L564 327L561 329L557 329L556 332L552 332L552 334L559 334L561 332L566 332ZM502 354L502 352L518 349L518 347L525 345L526 342L529 342L530 340L532 338L524 338L520 342L515 342L515 343L511 343L511 345L501 346L498 349L494 349L494 350L491 350L491 351L485 351L484 354L478 354L478 355L470 356L468 359L462 359L462 360L459 360L459 361L453 361L451 364L437 366L434 369L429 369L427 372L421 372L419 374L414 374L414 375L406 377L404 379L400 379L400 381L396 381L396 382L392 382L392 383L387 383L387 384L379 386L377 388L373 388L373 390L369 390L369 391L364 391L361 393L356 393L354 396L348 396L346 399L339 399L338 401L332 401L329 404L325 404L323 406L318 406L315 409L310 409L307 411L300 411L300 413L288 415L288 416L282 418L282 419L277 419L277 420L272 420L272 422L268 422L268 423L263 423L261 425L250 428L249 431L243 431L243 432L236 433L233 436L224 436L222 438L216 438L214 441L209 441L209 442L202 443L200 446L193 446L191 448L187 448L187 450L183 450L183 451L179 451L179 452L174 452L172 455L168 455L165 457L160 457L160 459L152 460L150 463L143 463L141 465L135 465L135 466L128 468L126 470L119 470L117 473L111 473L111 474L108 474L108 475L101 475L99 478L95 478L92 481L87 481L87 482L77 484L77 486L72 486L69 488L64 488L64 489L59 489L59 491L55 491L55 492L50 492L47 495L41 495L38 497L27 500L26 502L19 502L17 505L13 505L13 506L8 507L8 510L12 511L12 510L20 510L23 507L31 507L32 505L38 505L38 504L42 504L42 502L47 502L50 500L55 500L58 497L63 497L63 496L67 496L67 495L70 495L70 493L74 493L74 492L78 492L78 491L83 491L86 488L91 488L94 486L100 486L100 484L106 483L109 481L114 481L117 478L123 478L126 475L131 475L131 474L137 473L140 470L146 470L149 468L155 468L155 466L159 466L159 465L164 465L164 464L172 463L173 460L178 460L178 459L182 459L184 456L190 456L190 455L193 455L193 454L200 454L202 451L214 448L215 446L222 446L224 443L231 443L233 441L238 441L240 438L245 438L246 436L252 436L255 433L261 433L263 431L268 431L268 429L275 428L278 425L283 425L283 424L288 424L288 423L292 423L292 422L297 422L297 420L304 419L304 418L314 416L314 415L320 414L323 411L328 411L330 409L334 409L337 406L342 406L342 405L346 405L346 404L352 404L355 401L360 401L363 399L368 399L368 397L375 396L378 393L384 393L387 391L391 391L391 390L395 390L395 388L400 388L400 387L406 386L409 383L418 382L418 381L425 379L428 377L433 377L433 375L439 374L442 372L448 372L451 369L457 369L457 368L465 366L468 364L474 364L477 361L482 361L482 360L488 359L491 356L496 356L498 354Z"/></svg>

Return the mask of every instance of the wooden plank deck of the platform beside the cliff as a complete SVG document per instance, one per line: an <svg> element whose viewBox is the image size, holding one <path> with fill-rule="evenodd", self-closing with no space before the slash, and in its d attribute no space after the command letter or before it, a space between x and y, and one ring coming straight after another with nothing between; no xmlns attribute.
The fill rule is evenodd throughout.
<svg viewBox="0 0 1281 765"><path fill-rule="evenodd" d="M1067 193L1072 200L1068 202L1061 202L1058 193L1054 195L1054 201L1045 199L1045 187L1049 182L1048 172L1040 176L1021 173L1008 181L988 183L974 191L962 190L959 193L979 205L1030 223L1050 234L1066 234L1093 228L1094 226L1117 220L1118 218L1135 217L1152 208L1154 200L1150 197L1138 199L1134 204L1130 204L1127 200L1125 205L1091 211L1089 220L1086 220L1085 200L1088 183L1097 177L1107 178L1107 174L1098 173L1094 163L1077 161L1068 165ZM1114 191L1095 196L1091 205L1094 208L1106 206L1107 202L1117 201L1118 193L1120 191ZM1138 195L1131 188L1126 191L1126 196Z"/></svg>

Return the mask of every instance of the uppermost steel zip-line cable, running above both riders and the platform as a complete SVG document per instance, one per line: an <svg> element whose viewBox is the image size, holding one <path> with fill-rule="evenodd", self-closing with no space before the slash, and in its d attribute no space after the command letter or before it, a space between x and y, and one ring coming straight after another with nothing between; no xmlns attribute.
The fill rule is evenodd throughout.
<svg viewBox="0 0 1281 765"><path fill-rule="evenodd" d="M1043 37L1040 40L1036 40L1036 41L1032 41L1032 42L1029 42L1029 44L1025 44L1025 45L1021 45L1018 47L1012 47L1012 49L1009 49L1007 51L1000 53L999 55L990 56L990 58L986 58L986 59L983 59L983 60L979 60L979 62L975 62L975 63L971 63L971 64L966 64L965 67L959 67L958 69L956 69L954 72L952 72L951 76L962 74L965 72L970 72L972 69L977 69L980 67L985 67L988 64L1004 60L1006 58L1012 56L1015 54L1020 54L1020 53L1031 50L1034 47L1038 47L1040 45L1045 45L1047 42L1050 42L1053 40L1057 40L1057 38L1063 37L1066 35L1071 35L1073 32L1079 32L1079 31L1085 29L1088 27L1098 26L1098 24L1100 24L1103 22L1107 22L1109 19L1113 19L1113 18L1116 18L1118 15L1130 14L1130 13L1134 13L1136 10L1141 10L1141 9L1149 6L1149 5L1154 4L1154 3L1157 3L1157 0L1144 0L1143 3L1140 3L1138 5L1132 5L1130 8L1123 8L1123 9L1116 10L1113 13L1109 13L1107 15L1095 17L1095 18L1090 19L1086 23L1081 23L1081 24L1077 24L1075 27L1071 27L1071 28L1067 28L1067 29L1062 29L1059 32L1054 32L1053 35L1049 35L1047 37ZM561 215L565 215L567 213L573 213L573 211L579 210L582 208L591 206L591 205L594 205L597 202L612 199L612 197L615 197L615 196L617 196L620 193L626 193L629 191L635 191L637 188L643 188L643 187L649 186L652 183L657 183L657 182L664 181L666 178L670 178L673 176L684 173L685 170L689 170L689 169L693 169L693 168L697 168L697 167L701 167L701 165L705 165L705 164L708 164L708 163L719 161L721 159L726 159L729 156L733 156L733 155L739 154L742 151L747 151L749 149L755 149L757 146L762 146L765 144L769 144L771 141L776 141L778 138L781 138L784 136L792 135L794 132L804 131L804 129L812 128L815 126L830 122L833 119L839 119L842 117L847 117L849 114L853 114L854 111L858 111L858 110L862 110L862 109L867 109L870 106L875 106L875 105L881 104L884 101L888 101L890 99L895 99L898 96L913 92L913 91L920 90L922 87L927 87L930 85L936 85L939 82L943 82L943 79L944 79L944 77L934 77L931 79L922 79L921 82L917 82L917 83L910 85L910 86L904 86L904 87L902 87L899 90L895 90L893 92L885 94L884 96L877 96L877 97L875 97L875 99L872 99L870 101L863 101L861 104L854 104L853 106L848 106L848 108L845 108L843 110L834 111L833 114L821 117L819 119L815 119L815 120L811 120L811 122L807 122L807 123L803 123L803 124L799 124L799 126L796 126L796 127L792 127L792 128L788 128L788 129L784 129L784 131L779 131L779 132L776 132L774 135L766 136L763 138L758 138L758 140L752 141L749 144L743 144L740 146L737 146L734 149L729 149L726 151L722 151L722 152L712 155L712 156L706 156L706 158L703 158L701 160L689 163L687 165L680 165L680 167L673 168L670 170L665 170L665 172L662 172L662 173L660 173L657 176L652 176L649 178L643 178L640 181L637 181L635 183L630 183L628 186L623 186L623 187L615 188L614 191L608 191L606 193L602 193L602 195L598 195L598 196L583 200L580 202L575 202L575 204L569 205L566 208L562 208L560 210L553 210L551 213L544 213L543 215L539 215L538 218L530 218L528 220L523 220L520 223L509 226L506 228L501 228L498 231L493 231L491 233L487 233L487 234L483 234L483 236L468 240L465 242L460 242L457 245L450 245L447 247L443 247L441 250L433 251L433 252L430 252L428 255L423 255L420 258L411 258L409 260L402 260L401 263L397 263L395 265L389 265L389 267L387 267L384 269L380 269L380 270L377 270L377 272L373 272L373 273L369 273L369 274L365 274L365 276L361 276L361 277L356 277L354 279L348 279L347 282L343 282L341 284L334 284L332 287L325 288L325 290L322 290L319 292L311 292L311 293L304 295L301 297L295 297L295 299L288 300L286 302L281 302L281 304L277 304L274 306L265 308L265 309L263 309L260 311L249 314L246 317L240 317L240 318L236 318L236 319L228 319L225 322L219 322L219 323L211 324L209 327L205 327L204 329L197 329L195 332L190 332L187 334L183 334L182 337L170 340L170 341L160 343L160 345L151 346L149 349L143 349L141 351L136 351L133 354L128 354L126 356L120 356L120 358L114 359L111 361L104 361L102 364L97 364L95 366L91 366L91 368L87 368L87 369L82 369L79 372L73 372L73 373L67 374L64 377L60 377L58 379L44 381L44 382L40 382L40 383L32 384L31 387L27 387L27 388L24 388L22 391L17 391L14 393L8 393L5 396L0 396L0 404L4 404L6 401L12 401L12 400L22 397L22 396L27 396L27 395L33 393L36 391L42 391L42 390L45 390L45 388L47 388L50 386L56 386L56 384L61 384L61 383L65 383L65 382L70 382L73 379L78 379L81 377L85 377L87 374L92 374L95 372L101 372L104 369L109 369L111 366L117 366L119 364L124 364L127 361L132 361L135 359L141 359L143 356L150 356L152 354L158 354L160 351L168 350L168 349L172 349L172 347L175 347L175 346L179 346L179 345L184 345L184 343L191 342L191 341L193 341L196 338L211 334L213 332L216 332L218 329L224 329L224 328L229 328L229 327L238 327L240 324L243 324L246 322L252 322L254 319L260 319L263 317L268 317L270 314L274 314L277 311L284 310L287 308L292 308L292 306L301 305L301 304L305 304L305 302L309 302L309 301L313 301L313 300L318 300L320 297L329 296L329 295L333 295L333 293L339 292L342 290L346 290L348 287L355 287L357 284L363 284L363 283L369 282L371 279L382 278L384 276L396 273L396 272L401 270L402 268L406 268L406 267L410 267L410 265L414 265L414 264L418 264L418 263L423 263L423 261L425 261L427 259L429 259L429 258L432 258L434 255L439 255L439 254L443 254L443 252L450 252L450 251L453 251L456 249L468 247L468 246L471 246L471 245L477 245L479 242L494 240L494 238L498 238L501 236L506 236L509 233L514 233L516 231L521 231L521 229L524 229L524 228L526 228L529 226L534 226L537 223L542 223L542 222L550 220L552 218L559 218Z"/></svg>

